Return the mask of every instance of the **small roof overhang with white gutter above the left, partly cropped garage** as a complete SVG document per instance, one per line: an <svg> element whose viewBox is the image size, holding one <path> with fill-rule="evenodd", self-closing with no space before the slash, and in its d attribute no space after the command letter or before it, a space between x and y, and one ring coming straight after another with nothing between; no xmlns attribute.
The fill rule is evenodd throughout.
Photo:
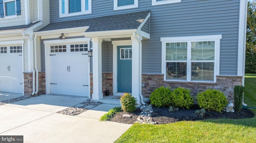
<svg viewBox="0 0 256 143"><path fill-rule="evenodd" d="M41 21L28 25L0 27L0 37L22 36L23 32L26 35L33 35L33 30L40 25L42 25Z"/></svg>

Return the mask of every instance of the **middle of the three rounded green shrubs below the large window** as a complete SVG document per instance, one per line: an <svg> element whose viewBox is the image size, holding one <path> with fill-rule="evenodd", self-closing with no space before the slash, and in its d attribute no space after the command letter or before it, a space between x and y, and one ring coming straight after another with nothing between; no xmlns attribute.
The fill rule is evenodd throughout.
<svg viewBox="0 0 256 143"><path fill-rule="evenodd" d="M194 100L190 96L190 90L180 87L174 89L171 94L171 104L174 107L189 109L194 105Z"/></svg>

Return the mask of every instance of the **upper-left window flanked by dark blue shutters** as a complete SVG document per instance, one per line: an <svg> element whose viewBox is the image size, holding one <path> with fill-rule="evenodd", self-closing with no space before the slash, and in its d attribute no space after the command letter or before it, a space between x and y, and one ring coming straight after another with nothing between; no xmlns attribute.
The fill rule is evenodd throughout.
<svg viewBox="0 0 256 143"><path fill-rule="evenodd" d="M14 18L20 15L20 0L0 0L0 17Z"/></svg>

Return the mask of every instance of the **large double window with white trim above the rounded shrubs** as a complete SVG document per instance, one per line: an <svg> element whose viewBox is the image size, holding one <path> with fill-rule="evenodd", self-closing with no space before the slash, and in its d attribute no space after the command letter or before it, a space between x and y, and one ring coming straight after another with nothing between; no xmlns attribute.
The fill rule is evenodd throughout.
<svg viewBox="0 0 256 143"><path fill-rule="evenodd" d="M216 82L222 35L164 37L164 80Z"/></svg>

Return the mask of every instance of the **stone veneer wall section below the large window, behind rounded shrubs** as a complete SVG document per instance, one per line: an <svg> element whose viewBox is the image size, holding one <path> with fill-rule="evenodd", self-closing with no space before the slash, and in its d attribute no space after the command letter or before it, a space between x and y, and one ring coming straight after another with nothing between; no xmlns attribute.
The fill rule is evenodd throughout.
<svg viewBox="0 0 256 143"><path fill-rule="evenodd" d="M146 85L142 87L144 97L149 97L156 88L164 86L170 87L171 90L178 87L189 89L193 97L204 90L216 89L223 92L228 101L234 102L234 86L242 85L242 76L216 76L216 83L208 83L164 81L164 74L142 74L142 84Z"/></svg>

